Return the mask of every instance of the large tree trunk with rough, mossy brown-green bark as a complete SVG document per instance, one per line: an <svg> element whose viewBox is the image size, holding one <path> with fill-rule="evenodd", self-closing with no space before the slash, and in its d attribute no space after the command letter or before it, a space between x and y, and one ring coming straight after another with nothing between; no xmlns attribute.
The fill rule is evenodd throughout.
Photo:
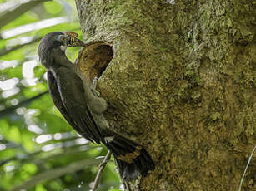
<svg viewBox="0 0 256 191"><path fill-rule="evenodd" d="M76 2L84 39L113 46L106 118L156 164L131 190L238 190L256 144L255 2ZM242 190L256 190L255 160Z"/></svg>

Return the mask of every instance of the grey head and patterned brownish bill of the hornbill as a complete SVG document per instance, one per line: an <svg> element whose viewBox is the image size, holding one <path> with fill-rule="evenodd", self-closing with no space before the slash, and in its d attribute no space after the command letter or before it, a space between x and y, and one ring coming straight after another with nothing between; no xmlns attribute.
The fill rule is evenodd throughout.
<svg viewBox="0 0 256 191"><path fill-rule="evenodd" d="M50 64L53 52L66 51L67 47L84 47L75 32L50 32L39 43L38 56L44 66Z"/></svg>

